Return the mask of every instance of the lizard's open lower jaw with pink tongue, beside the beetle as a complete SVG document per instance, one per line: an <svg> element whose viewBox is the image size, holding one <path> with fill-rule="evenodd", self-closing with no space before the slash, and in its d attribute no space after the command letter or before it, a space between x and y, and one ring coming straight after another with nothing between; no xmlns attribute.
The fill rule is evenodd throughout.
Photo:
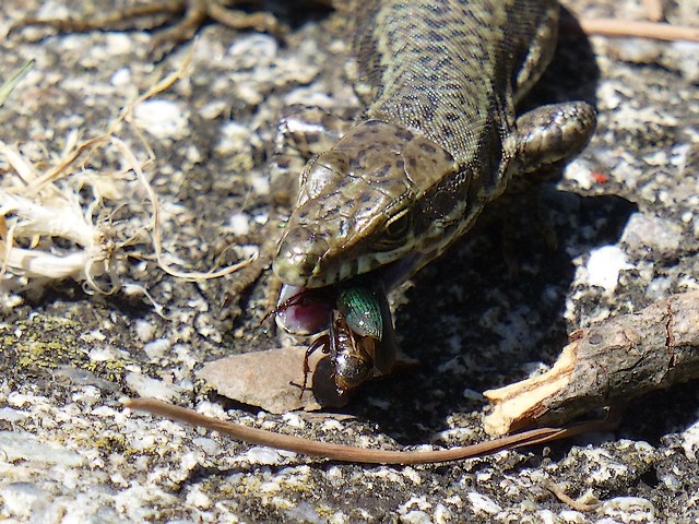
<svg viewBox="0 0 699 524"><path fill-rule="evenodd" d="M284 284L274 311L276 324L293 335L320 333L330 326L340 289L380 282L381 287L390 293L413 274L413 269L419 266L420 259L419 253L411 254L363 275L323 287Z"/></svg>

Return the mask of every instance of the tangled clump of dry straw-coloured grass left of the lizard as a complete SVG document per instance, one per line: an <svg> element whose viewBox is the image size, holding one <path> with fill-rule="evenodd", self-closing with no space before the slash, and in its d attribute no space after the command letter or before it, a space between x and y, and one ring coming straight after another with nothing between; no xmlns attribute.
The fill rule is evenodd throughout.
<svg viewBox="0 0 699 524"><path fill-rule="evenodd" d="M154 259L166 273L186 279L215 278L257 258L254 253L205 273L167 263L161 205L146 175L153 166L152 148L133 126L138 151L117 136L117 130L130 126L133 108L169 88L188 66L189 59L128 104L103 135L80 141L80 131L71 133L64 153L48 169L37 169L17 146L0 140L0 163L7 164L0 178L0 309L11 309L25 293L62 278L73 278L88 293L98 294L131 284L147 297L141 284L123 282L130 258ZM0 93L7 97L24 72L14 74ZM91 168L95 156L116 158L118 166Z"/></svg>

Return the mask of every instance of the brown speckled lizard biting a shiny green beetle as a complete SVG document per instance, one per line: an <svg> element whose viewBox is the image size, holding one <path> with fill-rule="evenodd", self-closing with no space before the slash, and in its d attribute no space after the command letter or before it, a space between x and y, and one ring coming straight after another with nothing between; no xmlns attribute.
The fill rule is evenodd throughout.
<svg viewBox="0 0 699 524"><path fill-rule="evenodd" d="M366 283L394 289L465 235L488 203L558 174L596 122L584 102L518 115L556 46L555 1L372 0L353 12L350 69L365 109L353 124L317 109L312 126L303 111L285 122L318 134L320 123L329 127L324 138L296 141L317 154L272 263L287 301ZM284 307L277 323L308 333L327 327L322 319ZM363 345L356 331L348 340ZM390 371L395 353L378 347L391 364L374 376Z"/></svg>

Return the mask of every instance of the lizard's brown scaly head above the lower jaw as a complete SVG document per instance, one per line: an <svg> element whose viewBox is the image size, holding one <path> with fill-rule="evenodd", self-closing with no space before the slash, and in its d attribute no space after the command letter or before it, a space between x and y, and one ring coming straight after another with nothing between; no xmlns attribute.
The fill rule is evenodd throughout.
<svg viewBox="0 0 699 524"><path fill-rule="evenodd" d="M355 126L306 165L274 274L299 287L389 266L398 274L382 275L388 287L407 278L439 254L464 212L469 183L454 184L457 172L447 151L413 131L380 120Z"/></svg>

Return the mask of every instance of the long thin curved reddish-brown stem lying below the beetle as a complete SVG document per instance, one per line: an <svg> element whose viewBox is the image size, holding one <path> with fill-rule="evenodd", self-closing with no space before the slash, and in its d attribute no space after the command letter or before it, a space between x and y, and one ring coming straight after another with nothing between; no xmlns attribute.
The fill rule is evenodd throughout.
<svg viewBox="0 0 699 524"><path fill-rule="evenodd" d="M332 444L249 428L240 424L206 417L191 409L174 406L154 398L135 398L128 402L126 406L131 409L139 409L192 426L200 426L212 431L218 431L249 444L266 445L304 455L358 464L430 464L461 461L489 455L502 450L543 444L590 431L609 431L616 427L616 422L595 420L572 425L567 428L534 429L463 448L438 451L387 451Z"/></svg>

